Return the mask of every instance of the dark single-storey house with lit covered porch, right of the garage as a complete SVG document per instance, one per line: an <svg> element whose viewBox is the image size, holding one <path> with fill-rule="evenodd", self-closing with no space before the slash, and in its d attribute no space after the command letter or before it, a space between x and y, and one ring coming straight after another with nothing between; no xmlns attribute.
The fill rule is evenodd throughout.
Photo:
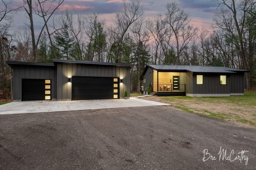
<svg viewBox="0 0 256 170"><path fill-rule="evenodd" d="M147 65L142 73L143 92L151 83L158 96L243 95L245 72L217 66Z"/></svg>

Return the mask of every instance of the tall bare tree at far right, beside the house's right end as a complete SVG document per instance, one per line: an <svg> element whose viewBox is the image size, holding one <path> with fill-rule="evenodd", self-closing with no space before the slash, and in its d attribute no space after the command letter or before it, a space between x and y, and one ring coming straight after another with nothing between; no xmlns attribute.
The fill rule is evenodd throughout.
<svg viewBox="0 0 256 170"><path fill-rule="evenodd" d="M221 12L217 25L222 30L228 32L234 39L234 45L238 55L241 58L241 67L252 71L252 57L249 57L246 37L246 15L250 12L252 6L255 6L255 0L243 0L238 5L235 0L219 0ZM233 27L234 25L234 27ZM235 28L235 29L233 29ZM251 89L251 73L245 74L246 88Z"/></svg>

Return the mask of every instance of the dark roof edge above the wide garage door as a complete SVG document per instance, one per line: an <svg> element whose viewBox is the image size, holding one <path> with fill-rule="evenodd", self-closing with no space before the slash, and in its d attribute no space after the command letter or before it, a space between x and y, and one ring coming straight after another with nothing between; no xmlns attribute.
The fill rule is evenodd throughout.
<svg viewBox="0 0 256 170"><path fill-rule="evenodd" d="M106 66L120 66L120 67L133 67L132 64L123 63L103 63L103 62L92 62L92 61L78 61L78 60L60 60L54 59L53 63L75 63L75 64L89 64L89 65L106 65Z"/></svg>

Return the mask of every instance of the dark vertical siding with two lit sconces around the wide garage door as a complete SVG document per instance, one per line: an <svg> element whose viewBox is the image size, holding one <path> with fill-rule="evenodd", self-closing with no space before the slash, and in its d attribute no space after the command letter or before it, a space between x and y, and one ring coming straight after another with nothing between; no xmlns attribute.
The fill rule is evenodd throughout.
<svg viewBox="0 0 256 170"><path fill-rule="evenodd" d="M119 86L119 97L123 98L124 90L127 90L127 97L130 97L130 68L116 66L92 66L82 64L57 64L57 88L58 100L71 100L72 83L68 78L73 76L81 77L117 77L123 79ZM72 80L71 80L72 82Z"/></svg>

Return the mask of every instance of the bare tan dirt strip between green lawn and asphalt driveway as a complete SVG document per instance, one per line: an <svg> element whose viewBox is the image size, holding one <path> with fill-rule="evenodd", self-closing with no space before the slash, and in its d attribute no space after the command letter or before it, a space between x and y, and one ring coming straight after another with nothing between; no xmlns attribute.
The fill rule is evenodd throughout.
<svg viewBox="0 0 256 170"><path fill-rule="evenodd" d="M207 101L198 98L145 97L143 99L171 104L172 107L200 115L213 115L237 125L256 126L256 106L237 105L224 100ZM217 114L217 115L214 115Z"/></svg>

